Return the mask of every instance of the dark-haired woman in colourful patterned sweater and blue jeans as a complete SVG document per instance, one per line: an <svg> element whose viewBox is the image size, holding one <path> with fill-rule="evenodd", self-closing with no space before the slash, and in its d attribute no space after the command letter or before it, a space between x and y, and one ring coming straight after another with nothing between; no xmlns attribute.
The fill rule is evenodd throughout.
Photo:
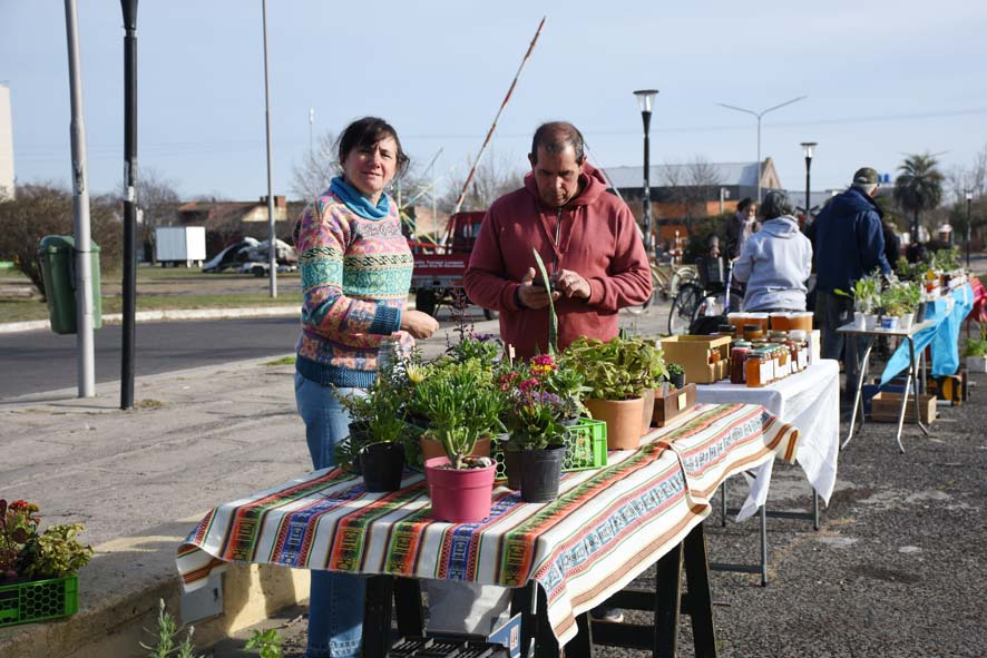
<svg viewBox="0 0 987 658"><path fill-rule="evenodd" d="M349 434L336 394L359 395L373 383L381 341L398 338L407 351L439 327L404 310L413 259L398 206L384 193L408 167L397 131L375 117L354 121L340 137L339 158L342 176L305 208L295 236L302 274L295 400L315 469L333 465L335 445ZM362 619L361 579L312 571L307 658L359 656Z"/></svg>

